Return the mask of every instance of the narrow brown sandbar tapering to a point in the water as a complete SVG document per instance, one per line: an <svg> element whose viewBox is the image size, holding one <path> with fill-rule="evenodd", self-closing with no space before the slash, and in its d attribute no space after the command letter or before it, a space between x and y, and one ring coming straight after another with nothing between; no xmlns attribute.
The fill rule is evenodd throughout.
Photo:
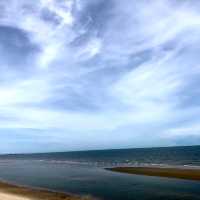
<svg viewBox="0 0 200 200"><path fill-rule="evenodd" d="M113 167L106 170L165 178L178 178L185 180L200 181L200 169L195 168L175 168L175 167Z"/></svg>

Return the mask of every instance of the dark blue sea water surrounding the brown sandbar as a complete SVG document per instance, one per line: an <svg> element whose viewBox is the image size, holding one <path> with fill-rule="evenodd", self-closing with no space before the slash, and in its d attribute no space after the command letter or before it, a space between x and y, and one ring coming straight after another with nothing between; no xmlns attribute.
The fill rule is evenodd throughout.
<svg viewBox="0 0 200 200"><path fill-rule="evenodd" d="M200 200L200 182L104 170L119 165L200 167L200 147L105 150L0 157L0 178L104 200Z"/></svg>

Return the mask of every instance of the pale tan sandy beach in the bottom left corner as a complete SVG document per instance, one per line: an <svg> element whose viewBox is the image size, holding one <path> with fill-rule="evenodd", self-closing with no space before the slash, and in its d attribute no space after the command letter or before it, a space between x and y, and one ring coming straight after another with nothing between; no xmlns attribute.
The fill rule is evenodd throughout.
<svg viewBox="0 0 200 200"><path fill-rule="evenodd" d="M0 199L4 200L94 200L90 196L79 196L46 189L11 184L0 180Z"/></svg>

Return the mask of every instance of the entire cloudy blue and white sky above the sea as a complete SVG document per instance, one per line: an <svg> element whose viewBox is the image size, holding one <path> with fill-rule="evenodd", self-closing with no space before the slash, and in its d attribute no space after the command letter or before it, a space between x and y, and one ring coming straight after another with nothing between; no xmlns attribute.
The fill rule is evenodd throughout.
<svg viewBox="0 0 200 200"><path fill-rule="evenodd" d="M0 153L200 144L200 2L1 0Z"/></svg>

